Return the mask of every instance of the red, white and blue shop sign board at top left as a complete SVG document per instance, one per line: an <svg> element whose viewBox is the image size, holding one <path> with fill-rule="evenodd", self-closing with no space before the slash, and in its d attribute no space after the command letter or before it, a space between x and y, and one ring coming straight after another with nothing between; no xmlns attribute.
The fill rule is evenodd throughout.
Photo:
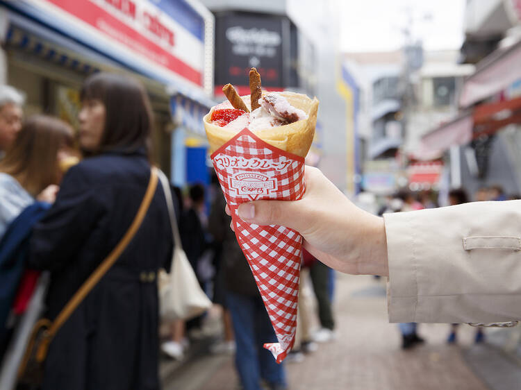
<svg viewBox="0 0 521 390"><path fill-rule="evenodd" d="M163 80L204 84L204 17L186 1L21 1L37 18Z"/></svg>

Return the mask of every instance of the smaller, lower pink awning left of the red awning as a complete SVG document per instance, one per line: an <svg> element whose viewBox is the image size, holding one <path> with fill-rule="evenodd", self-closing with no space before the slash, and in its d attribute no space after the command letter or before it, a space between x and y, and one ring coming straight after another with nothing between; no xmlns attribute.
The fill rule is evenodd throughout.
<svg viewBox="0 0 521 390"><path fill-rule="evenodd" d="M472 126L474 126L472 112L465 112L424 135L420 143L420 150L415 154L425 155L428 159L433 155L440 155L453 145L468 144L472 140ZM426 158L422 158L422 160L426 160Z"/></svg>

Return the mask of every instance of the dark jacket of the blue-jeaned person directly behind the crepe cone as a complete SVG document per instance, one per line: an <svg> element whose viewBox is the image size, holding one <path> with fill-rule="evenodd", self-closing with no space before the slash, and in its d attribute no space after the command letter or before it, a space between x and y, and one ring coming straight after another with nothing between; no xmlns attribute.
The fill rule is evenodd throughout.
<svg viewBox="0 0 521 390"><path fill-rule="evenodd" d="M208 220L211 235L215 241L222 242L220 266L224 272L225 288L235 294L260 297L248 260L230 228L231 217L226 215L225 206L224 196L217 194Z"/></svg>

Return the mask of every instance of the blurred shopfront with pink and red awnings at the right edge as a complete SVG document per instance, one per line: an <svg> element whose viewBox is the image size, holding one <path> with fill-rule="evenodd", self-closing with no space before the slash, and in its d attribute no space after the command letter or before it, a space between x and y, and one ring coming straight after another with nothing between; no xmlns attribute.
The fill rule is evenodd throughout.
<svg viewBox="0 0 521 390"><path fill-rule="evenodd" d="M521 191L521 42L490 54L463 83L458 117L422 138L425 153L451 149L453 183L471 193L500 185ZM461 176L461 177L458 177Z"/></svg>

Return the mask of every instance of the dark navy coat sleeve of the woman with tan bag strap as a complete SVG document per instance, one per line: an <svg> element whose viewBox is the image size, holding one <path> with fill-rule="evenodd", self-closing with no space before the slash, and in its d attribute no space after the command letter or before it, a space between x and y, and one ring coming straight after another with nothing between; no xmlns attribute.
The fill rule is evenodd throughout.
<svg viewBox="0 0 521 390"><path fill-rule="evenodd" d="M33 228L28 266L56 271L74 261L104 213L90 175L81 164L63 178L56 202Z"/></svg>

